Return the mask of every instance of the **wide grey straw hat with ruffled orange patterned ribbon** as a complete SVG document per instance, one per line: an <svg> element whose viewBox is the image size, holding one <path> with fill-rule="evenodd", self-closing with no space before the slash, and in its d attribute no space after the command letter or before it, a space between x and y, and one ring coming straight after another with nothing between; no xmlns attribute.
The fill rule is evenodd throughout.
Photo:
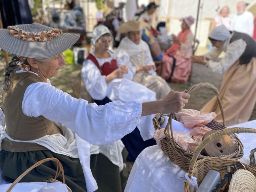
<svg viewBox="0 0 256 192"><path fill-rule="evenodd" d="M0 29L0 36L0 48L18 56L43 59L67 50L78 40L80 34L63 33L61 30L33 23Z"/></svg>

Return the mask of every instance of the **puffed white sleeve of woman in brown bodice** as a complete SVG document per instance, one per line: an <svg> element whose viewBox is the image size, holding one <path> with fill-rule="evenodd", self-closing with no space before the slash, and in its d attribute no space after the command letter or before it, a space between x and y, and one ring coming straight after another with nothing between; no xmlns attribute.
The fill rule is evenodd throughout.
<svg viewBox="0 0 256 192"><path fill-rule="evenodd" d="M60 122L89 143L102 145L117 141L135 129L142 104L135 101L88 104L47 83L37 82L26 89L22 110L30 117L42 115Z"/></svg>

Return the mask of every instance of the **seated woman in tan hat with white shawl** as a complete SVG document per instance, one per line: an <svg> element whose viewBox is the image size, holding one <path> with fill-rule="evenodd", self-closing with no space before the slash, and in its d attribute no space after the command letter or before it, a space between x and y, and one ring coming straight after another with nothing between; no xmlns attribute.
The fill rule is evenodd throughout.
<svg viewBox="0 0 256 192"><path fill-rule="evenodd" d="M127 33L115 51L118 57L129 57L133 81L144 85L156 93L156 99L163 99L171 90L166 81L157 76L155 63L150 54L150 49L141 39L141 30L147 24L143 21L129 21L121 25L120 33Z"/></svg>

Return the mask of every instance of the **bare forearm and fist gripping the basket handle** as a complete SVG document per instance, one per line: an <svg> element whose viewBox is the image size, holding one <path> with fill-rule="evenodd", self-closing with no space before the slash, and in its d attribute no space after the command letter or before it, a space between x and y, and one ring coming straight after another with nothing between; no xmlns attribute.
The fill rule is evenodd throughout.
<svg viewBox="0 0 256 192"><path fill-rule="evenodd" d="M188 102L189 97L190 95L188 93L172 90L164 99L142 103L141 116L155 113L175 113L181 111Z"/></svg>

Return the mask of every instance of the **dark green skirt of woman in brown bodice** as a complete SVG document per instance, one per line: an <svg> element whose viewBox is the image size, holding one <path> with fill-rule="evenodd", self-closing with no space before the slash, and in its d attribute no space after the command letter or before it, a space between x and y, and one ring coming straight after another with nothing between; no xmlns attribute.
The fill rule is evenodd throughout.
<svg viewBox="0 0 256 192"><path fill-rule="evenodd" d="M13 183L14 180L29 167L34 165L36 162L49 157L55 157L60 161L64 169L66 184L73 192L86 191L86 183L79 158L71 158L66 155L51 152L50 150L19 153L2 150L0 152L0 168L2 170L2 177L6 182ZM95 157L96 156L92 155L91 161L95 161ZM56 169L57 164L55 162L45 162L32 169L20 180L20 182L39 182L45 179L54 178ZM61 174L58 176L57 180L62 181Z"/></svg>

